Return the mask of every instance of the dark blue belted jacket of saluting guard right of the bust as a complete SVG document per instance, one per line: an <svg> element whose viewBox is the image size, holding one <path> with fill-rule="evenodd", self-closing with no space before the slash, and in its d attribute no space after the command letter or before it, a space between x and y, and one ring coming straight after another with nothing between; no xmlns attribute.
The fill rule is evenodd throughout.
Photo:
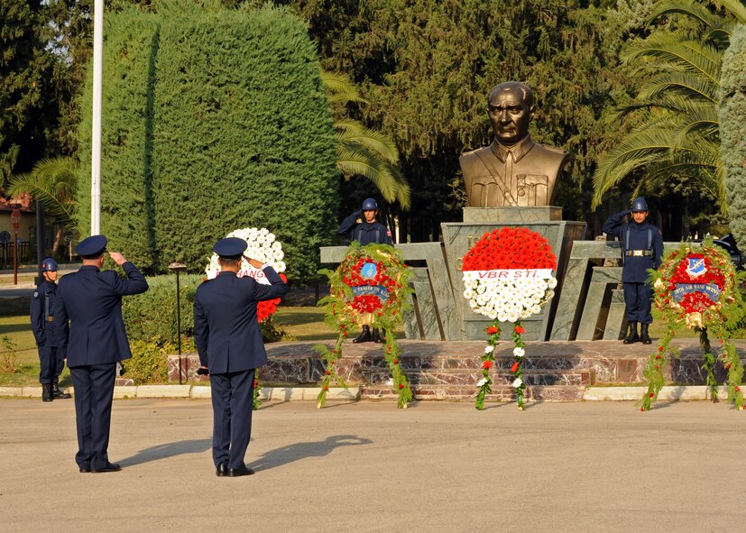
<svg viewBox="0 0 746 533"><path fill-rule="evenodd" d="M604 234L619 237L622 242L622 283L644 283L648 280L648 269L657 269L663 254L663 236L660 230L646 219L642 224L624 223L623 218L631 211L622 211L603 224Z"/></svg>

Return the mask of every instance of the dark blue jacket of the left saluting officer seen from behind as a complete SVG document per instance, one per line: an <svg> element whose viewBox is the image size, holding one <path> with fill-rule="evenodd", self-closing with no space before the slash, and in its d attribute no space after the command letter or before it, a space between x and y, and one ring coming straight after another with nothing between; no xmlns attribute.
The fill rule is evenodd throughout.
<svg viewBox="0 0 746 533"><path fill-rule="evenodd" d="M99 271L92 265L60 279L54 317L60 326L57 342L70 368L132 357L122 320L122 297L145 292L148 282L133 263L124 262L122 268L126 280L115 271Z"/></svg>

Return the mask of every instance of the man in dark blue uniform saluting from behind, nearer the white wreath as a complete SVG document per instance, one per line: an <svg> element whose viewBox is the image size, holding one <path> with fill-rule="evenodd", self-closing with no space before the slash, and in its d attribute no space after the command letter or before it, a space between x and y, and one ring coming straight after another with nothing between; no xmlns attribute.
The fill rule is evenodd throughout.
<svg viewBox="0 0 746 533"><path fill-rule="evenodd" d="M237 237L213 246L220 272L198 287L194 300L194 342L199 363L210 374L212 456L219 477L253 473L244 464L252 435L253 381L256 368L267 363L256 304L281 298L289 290L271 266L255 259L246 258L272 284L237 277L246 247L244 239Z"/></svg>

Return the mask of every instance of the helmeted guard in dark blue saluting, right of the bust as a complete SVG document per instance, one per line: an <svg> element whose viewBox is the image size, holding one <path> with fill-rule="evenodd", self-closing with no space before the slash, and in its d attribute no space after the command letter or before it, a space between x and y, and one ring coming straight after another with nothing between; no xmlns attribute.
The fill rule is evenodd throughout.
<svg viewBox="0 0 746 533"><path fill-rule="evenodd" d="M624 223L624 216L632 214L632 222ZM642 341L649 345L652 340L648 326L653 321L650 315L652 288L649 286L648 269L658 269L663 254L663 237L660 230L648 222L648 204L644 198L635 198L632 208L611 216L603 223L603 233L619 237L622 241L622 285L624 303L627 307L627 325L630 330L624 344ZM640 335L637 324L640 323Z"/></svg>

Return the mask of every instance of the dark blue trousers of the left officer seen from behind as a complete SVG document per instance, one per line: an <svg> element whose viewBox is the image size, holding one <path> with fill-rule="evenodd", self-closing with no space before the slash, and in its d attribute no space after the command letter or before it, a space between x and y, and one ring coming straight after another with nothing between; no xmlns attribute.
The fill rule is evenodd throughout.
<svg viewBox="0 0 746 533"><path fill-rule="evenodd" d="M75 421L81 468L103 468L109 462L111 404L114 398L116 363L90 364L70 368L75 388Z"/></svg>

